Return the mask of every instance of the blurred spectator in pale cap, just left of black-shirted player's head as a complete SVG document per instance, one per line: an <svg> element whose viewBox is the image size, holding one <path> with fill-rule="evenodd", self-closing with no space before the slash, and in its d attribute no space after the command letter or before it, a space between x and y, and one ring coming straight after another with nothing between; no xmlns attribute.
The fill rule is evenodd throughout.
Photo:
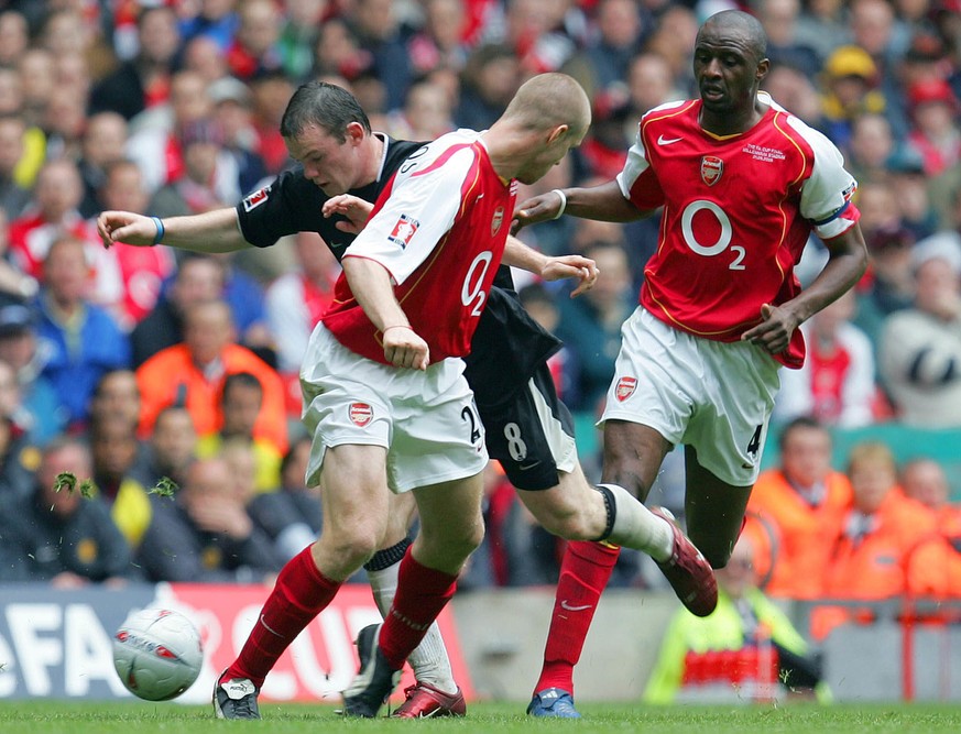
<svg viewBox="0 0 961 734"><path fill-rule="evenodd" d="M214 121L223 134L222 150L233 158L237 167L240 191L252 191L267 174L258 153L250 88L240 79L223 77L211 83L207 94L214 103Z"/></svg>

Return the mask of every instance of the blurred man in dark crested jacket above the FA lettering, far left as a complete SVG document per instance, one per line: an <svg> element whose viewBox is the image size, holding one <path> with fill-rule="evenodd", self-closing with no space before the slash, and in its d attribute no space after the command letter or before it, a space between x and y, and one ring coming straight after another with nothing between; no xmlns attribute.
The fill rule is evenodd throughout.
<svg viewBox="0 0 961 734"><path fill-rule="evenodd" d="M76 589L128 576L130 547L100 497L85 497L59 481L90 475L90 454L75 439L56 439L42 452L33 491L6 506L0 519L0 579L45 581Z"/></svg>

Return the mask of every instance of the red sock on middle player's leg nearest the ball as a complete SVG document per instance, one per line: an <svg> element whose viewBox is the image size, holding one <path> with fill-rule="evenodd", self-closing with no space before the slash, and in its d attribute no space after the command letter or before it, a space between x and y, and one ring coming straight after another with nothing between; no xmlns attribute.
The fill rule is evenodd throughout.
<svg viewBox="0 0 961 734"><path fill-rule="evenodd" d="M277 576L243 649L220 680L249 678L258 689L287 646L326 607L339 581L331 581L314 563L310 548L294 556Z"/></svg>

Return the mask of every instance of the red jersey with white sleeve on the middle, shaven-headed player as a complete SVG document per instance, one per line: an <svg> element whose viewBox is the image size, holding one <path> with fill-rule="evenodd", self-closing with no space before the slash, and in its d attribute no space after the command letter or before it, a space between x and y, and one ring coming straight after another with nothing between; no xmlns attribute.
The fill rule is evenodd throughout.
<svg viewBox="0 0 961 734"><path fill-rule="evenodd" d="M504 252L516 182L494 172L473 130L458 130L414 152L374 205L345 258L383 265L430 359L463 357ZM348 349L386 363L382 335L347 278L335 286L324 325Z"/></svg>

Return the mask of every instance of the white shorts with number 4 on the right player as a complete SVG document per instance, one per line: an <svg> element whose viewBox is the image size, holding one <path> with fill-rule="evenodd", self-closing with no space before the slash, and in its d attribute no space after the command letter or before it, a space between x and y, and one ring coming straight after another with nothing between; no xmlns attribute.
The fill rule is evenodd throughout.
<svg viewBox="0 0 961 734"><path fill-rule="evenodd" d="M702 339L637 307L621 328L604 420L654 428L697 450L698 463L734 486L754 484L780 386L769 354L746 341Z"/></svg>

